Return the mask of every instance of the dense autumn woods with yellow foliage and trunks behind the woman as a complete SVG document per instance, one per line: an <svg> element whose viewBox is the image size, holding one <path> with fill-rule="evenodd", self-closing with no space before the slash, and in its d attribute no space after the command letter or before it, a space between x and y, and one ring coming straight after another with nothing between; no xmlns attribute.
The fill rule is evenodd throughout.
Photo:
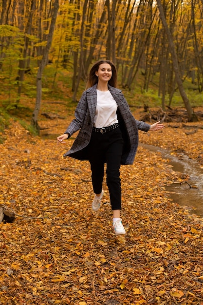
<svg viewBox="0 0 203 305"><path fill-rule="evenodd" d="M201 0L0 0L0 85L16 88L18 107L25 76L37 77L37 126L48 64L55 65L53 82L61 69L73 72L76 101L92 63L110 59L119 87L134 89L142 75L142 90L154 82L163 109L166 95L170 106L179 88L191 118L182 84L187 79L203 91L202 34Z"/></svg>

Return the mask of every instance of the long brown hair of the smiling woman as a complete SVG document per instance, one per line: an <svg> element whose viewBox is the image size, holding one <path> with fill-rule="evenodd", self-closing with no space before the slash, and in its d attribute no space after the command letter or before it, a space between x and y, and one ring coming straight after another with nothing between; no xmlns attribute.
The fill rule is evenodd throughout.
<svg viewBox="0 0 203 305"><path fill-rule="evenodd" d="M98 83L98 77L95 75L95 72L98 71L99 66L102 63L108 63L111 66L112 76L111 79L108 81L108 84L112 87L116 88L117 85L117 72L115 65L110 60L99 60L97 61L90 70L89 80L86 85L86 89L92 87L96 83Z"/></svg>

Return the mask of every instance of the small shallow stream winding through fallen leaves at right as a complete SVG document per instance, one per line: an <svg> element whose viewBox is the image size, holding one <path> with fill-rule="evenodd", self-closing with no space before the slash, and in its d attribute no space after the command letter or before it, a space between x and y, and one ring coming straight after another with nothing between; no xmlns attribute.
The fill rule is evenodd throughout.
<svg viewBox="0 0 203 305"><path fill-rule="evenodd" d="M187 206L191 209L191 213L203 217L203 169L200 164L188 158L186 155L181 159L170 155L170 152L157 146L148 144L139 144L152 152L161 152L164 159L168 159L168 164L173 166L175 172L187 174L190 179L186 183L173 183L166 187L166 191L170 192L170 198L180 206ZM192 188L190 188L192 186Z"/></svg>

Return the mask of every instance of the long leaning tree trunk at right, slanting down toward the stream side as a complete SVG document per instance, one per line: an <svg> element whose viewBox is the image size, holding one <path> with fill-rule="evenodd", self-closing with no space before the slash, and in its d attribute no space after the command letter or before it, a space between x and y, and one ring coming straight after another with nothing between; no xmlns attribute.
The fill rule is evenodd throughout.
<svg viewBox="0 0 203 305"><path fill-rule="evenodd" d="M179 70L179 65L178 65L178 57L177 57L177 54L176 54L175 45L174 45L174 42L173 42L171 32L170 32L170 30L168 28L168 25L166 23L166 18L165 18L165 15L164 15L164 9L163 9L163 6L161 4L161 0L156 0L156 2L157 2L159 13L160 13L160 18L162 20L163 26L164 26L165 31L166 31L168 44L169 44L169 48L170 48L170 53L171 53L171 57L172 57L172 62L173 62L173 70L174 70L174 73L175 73L175 76L176 76L176 81L177 81L177 84L178 84L178 88L179 88L180 94L182 96L182 99L184 101L185 108L186 108L187 114L189 116L189 120L191 122L195 122L198 119L197 119L196 114L194 114L194 112L193 112L193 109L190 105L189 99L188 99L188 97L185 93L185 90L184 90L183 82L182 82L182 79L181 79L181 76L180 76L180 70Z"/></svg>

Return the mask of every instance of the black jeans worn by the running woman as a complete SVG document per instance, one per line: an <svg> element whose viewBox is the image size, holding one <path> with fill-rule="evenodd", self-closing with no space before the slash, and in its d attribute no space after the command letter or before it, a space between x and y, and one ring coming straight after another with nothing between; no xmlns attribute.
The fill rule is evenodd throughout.
<svg viewBox="0 0 203 305"><path fill-rule="evenodd" d="M123 143L121 131L117 128L107 133L92 132L89 144L93 191L96 194L102 191L104 165L106 163L107 186L112 210L121 210L121 179L119 170Z"/></svg>

